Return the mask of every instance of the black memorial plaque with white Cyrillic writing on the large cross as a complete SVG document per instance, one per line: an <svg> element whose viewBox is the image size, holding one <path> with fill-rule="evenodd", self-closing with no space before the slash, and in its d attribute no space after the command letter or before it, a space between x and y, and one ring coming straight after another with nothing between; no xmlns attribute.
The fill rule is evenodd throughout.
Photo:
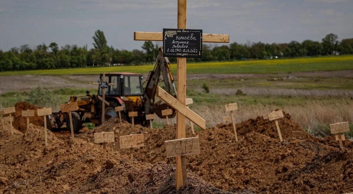
<svg viewBox="0 0 353 194"><path fill-rule="evenodd" d="M163 28L163 56L202 57L202 30Z"/></svg>

